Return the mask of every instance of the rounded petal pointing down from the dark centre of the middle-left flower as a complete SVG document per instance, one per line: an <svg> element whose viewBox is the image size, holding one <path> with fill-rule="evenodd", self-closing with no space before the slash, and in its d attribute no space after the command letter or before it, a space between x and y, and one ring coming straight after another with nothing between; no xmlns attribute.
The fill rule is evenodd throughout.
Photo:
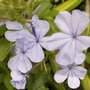
<svg viewBox="0 0 90 90"><path fill-rule="evenodd" d="M44 52L41 46L36 43L27 51L26 56L29 57L32 62L38 63L44 59Z"/></svg>

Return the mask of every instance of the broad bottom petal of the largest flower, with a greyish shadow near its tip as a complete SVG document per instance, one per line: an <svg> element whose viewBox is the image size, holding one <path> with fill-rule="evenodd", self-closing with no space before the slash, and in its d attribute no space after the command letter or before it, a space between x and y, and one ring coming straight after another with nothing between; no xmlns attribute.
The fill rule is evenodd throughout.
<svg viewBox="0 0 90 90"><path fill-rule="evenodd" d="M60 65L68 65L74 62L76 57L75 40L72 39L56 55L56 62Z"/></svg>

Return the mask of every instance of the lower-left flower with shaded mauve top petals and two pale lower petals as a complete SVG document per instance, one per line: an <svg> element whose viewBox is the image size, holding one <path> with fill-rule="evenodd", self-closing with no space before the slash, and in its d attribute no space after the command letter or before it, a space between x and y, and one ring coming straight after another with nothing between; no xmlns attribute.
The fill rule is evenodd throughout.
<svg viewBox="0 0 90 90"><path fill-rule="evenodd" d="M22 73L27 73L31 70L32 64L30 58L26 55L30 44L25 38L17 39L15 45L15 56L8 62L8 67L11 70L19 70Z"/></svg>

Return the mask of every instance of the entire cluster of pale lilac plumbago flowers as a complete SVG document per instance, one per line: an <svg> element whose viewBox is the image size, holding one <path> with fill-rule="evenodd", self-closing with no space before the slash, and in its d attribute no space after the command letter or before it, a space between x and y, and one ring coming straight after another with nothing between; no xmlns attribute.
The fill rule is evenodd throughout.
<svg viewBox="0 0 90 90"><path fill-rule="evenodd" d="M80 65L85 60L83 53L90 47L90 37L81 36L89 23L88 15L80 10L60 12L55 20L61 32L45 36L50 29L49 23L33 16L24 27L18 22L6 22L8 31L5 37L14 42L14 57L8 62L11 70L11 84L17 89L24 89L27 73L32 69L32 62L39 63L44 59L44 49L48 51L59 50L55 57L56 63L62 69L54 75L57 83L68 78L70 88L78 88L87 70ZM26 27L26 28L25 28Z"/></svg>

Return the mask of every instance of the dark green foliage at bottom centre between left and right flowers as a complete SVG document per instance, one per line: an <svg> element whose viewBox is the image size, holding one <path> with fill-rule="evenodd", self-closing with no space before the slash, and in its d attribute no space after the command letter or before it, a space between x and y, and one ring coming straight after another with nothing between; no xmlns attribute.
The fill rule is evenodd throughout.
<svg viewBox="0 0 90 90"><path fill-rule="evenodd" d="M47 70L49 68L51 67L47 67ZM65 88L62 84L55 83L52 71L45 71L41 63L31 71L27 82L27 90L65 90Z"/></svg>

